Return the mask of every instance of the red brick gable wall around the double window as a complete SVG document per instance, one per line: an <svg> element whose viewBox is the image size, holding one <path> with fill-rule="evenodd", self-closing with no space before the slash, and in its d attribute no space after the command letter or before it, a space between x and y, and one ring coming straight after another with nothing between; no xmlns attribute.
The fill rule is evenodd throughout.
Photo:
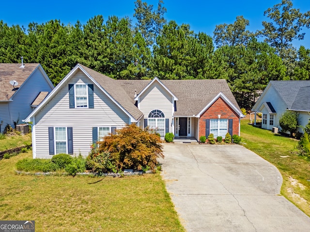
<svg viewBox="0 0 310 232"><path fill-rule="evenodd" d="M217 115L223 119L233 119L233 134L239 135L239 116L219 97L199 118L199 138L205 135L205 119L216 119Z"/></svg>

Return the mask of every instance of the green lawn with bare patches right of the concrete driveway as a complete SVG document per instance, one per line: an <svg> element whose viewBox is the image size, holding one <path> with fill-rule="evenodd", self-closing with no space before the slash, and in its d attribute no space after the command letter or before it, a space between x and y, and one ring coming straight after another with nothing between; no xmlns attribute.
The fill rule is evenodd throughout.
<svg viewBox="0 0 310 232"><path fill-rule="evenodd" d="M294 153L298 140L274 134L241 120L245 147L275 165L283 177L281 194L310 216L310 162Z"/></svg>

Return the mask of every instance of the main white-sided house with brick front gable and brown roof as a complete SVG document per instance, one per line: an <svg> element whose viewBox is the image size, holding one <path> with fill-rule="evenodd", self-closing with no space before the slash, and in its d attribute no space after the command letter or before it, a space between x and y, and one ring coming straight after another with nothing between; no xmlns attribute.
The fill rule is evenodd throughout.
<svg viewBox="0 0 310 232"><path fill-rule="evenodd" d="M226 80L114 80L78 64L25 119L33 158L87 156L90 145L136 123L162 137L239 134L243 114Z"/></svg>

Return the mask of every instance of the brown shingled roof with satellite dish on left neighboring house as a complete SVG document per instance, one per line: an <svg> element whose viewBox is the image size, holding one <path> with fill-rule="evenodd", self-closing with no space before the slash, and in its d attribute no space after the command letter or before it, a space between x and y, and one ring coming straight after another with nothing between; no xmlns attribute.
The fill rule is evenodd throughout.
<svg viewBox="0 0 310 232"><path fill-rule="evenodd" d="M39 64L24 64L24 68L19 68L21 64L0 63L0 101L9 101L16 90L27 80L30 74ZM13 89L10 81L17 81L18 86Z"/></svg>

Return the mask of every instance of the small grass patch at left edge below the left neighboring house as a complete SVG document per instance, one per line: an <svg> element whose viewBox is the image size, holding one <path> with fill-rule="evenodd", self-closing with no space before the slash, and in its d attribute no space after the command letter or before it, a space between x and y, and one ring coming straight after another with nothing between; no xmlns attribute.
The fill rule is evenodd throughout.
<svg viewBox="0 0 310 232"><path fill-rule="evenodd" d="M25 135L4 136L0 139L0 151L31 144L31 133Z"/></svg>

